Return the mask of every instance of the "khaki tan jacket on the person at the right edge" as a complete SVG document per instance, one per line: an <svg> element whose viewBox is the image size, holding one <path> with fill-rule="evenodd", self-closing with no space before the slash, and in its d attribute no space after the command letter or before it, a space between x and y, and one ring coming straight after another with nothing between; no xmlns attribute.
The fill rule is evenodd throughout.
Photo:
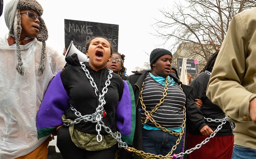
<svg viewBox="0 0 256 159"><path fill-rule="evenodd" d="M234 144L256 149L256 125L249 115L249 102L256 97L256 7L231 20L207 96L235 122Z"/></svg>

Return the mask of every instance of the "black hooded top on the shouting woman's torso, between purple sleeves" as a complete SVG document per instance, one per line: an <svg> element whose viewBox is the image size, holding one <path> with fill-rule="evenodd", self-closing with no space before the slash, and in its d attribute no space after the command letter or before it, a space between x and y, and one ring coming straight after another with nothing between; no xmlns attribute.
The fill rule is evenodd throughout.
<svg viewBox="0 0 256 159"><path fill-rule="evenodd" d="M91 77L93 78L98 91L98 97L95 95L95 90L92 87L90 80L86 77L84 70L78 60L77 54L73 54L66 58L66 61L70 66L65 68L61 72L61 80L68 95L70 97L69 103L76 108L83 116L88 114L93 114L99 105L99 93L102 93L103 87L105 87L105 81L108 77L107 68L103 68L99 71L93 70L88 62L84 62L86 69L89 71ZM115 132L117 130L116 122L116 104L121 100L123 95L124 83L121 77L116 73L112 73L112 78L110 79L110 85L107 87L108 91L104 95L104 100L106 104L104 105L104 110L107 112L106 117L103 117L103 122L108 126L111 131ZM67 119L75 120L78 118L75 113L70 109L70 107L65 111L65 117ZM96 123L81 121L79 124L75 124L75 128L79 131L97 134L95 131ZM107 132L101 129L101 134L106 135Z"/></svg>

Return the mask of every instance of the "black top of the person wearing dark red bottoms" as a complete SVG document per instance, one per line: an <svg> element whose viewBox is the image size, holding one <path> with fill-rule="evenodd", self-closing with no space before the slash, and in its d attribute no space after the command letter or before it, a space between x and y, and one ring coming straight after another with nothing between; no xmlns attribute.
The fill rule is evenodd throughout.
<svg viewBox="0 0 256 159"><path fill-rule="evenodd" d="M189 86L193 86L193 90L189 94L187 101L187 117L189 125L189 133L194 135L201 135L200 130L208 125L212 131L217 129L217 126L221 123L207 122L205 118L211 119L222 119L225 117L222 109L216 104L213 104L210 99L206 96L206 89L210 79L210 75L202 72L190 83ZM202 108L196 106L195 99L201 97L203 102ZM216 133L216 136L230 136L233 135L231 125L226 122L222 126L222 129Z"/></svg>

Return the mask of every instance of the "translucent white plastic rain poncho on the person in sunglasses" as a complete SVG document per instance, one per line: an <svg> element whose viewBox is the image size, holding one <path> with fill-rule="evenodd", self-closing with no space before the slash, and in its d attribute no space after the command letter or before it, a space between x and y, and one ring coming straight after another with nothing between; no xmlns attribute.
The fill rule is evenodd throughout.
<svg viewBox="0 0 256 159"><path fill-rule="evenodd" d="M24 76L16 71L16 44L0 38L0 158L12 159L36 149L45 138L37 139L36 113L49 81L65 65L61 52L46 46L45 71L39 75L42 43L34 39L20 45Z"/></svg>

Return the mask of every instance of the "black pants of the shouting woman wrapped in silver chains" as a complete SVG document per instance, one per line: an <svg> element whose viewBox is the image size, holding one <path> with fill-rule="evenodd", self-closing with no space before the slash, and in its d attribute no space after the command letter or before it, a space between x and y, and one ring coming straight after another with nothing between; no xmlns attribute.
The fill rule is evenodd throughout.
<svg viewBox="0 0 256 159"><path fill-rule="evenodd" d="M114 159L118 144L99 151L87 151L78 148L71 140L69 128L61 126L57 131L57 147L63 159Z"/></svg>

